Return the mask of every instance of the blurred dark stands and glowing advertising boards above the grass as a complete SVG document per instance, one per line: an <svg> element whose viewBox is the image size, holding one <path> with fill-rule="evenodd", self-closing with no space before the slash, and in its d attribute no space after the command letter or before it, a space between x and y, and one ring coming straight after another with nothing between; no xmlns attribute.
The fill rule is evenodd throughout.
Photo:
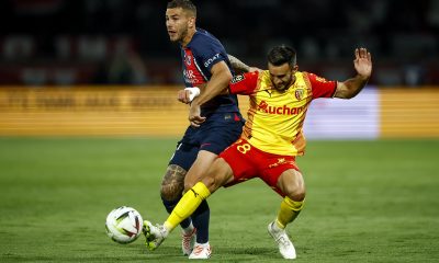
<svg viewBox="0 0 439 263"><path fill-rule="evenodd" d="M297 49L301 70L344 80L353 48L371 50L362 103L315 103L311 138L439 136L438 1L195 2L198 25L249 65L264 68L267 50L284 43ZM0 134L178 136L185 106L175 100L182 78L165 9L166 1L1 1Z"/></svg>

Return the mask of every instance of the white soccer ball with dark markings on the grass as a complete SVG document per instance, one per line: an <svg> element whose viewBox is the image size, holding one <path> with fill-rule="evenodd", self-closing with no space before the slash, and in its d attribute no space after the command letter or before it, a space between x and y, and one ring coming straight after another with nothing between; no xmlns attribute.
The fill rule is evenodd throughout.
<svg viewBox="0 0 439 263"><path fill-rule="evenodd" d="M144 221L140 214L128 206L121 206L106 216L106 235L117 243L131 243L142 233Z"/></svg>

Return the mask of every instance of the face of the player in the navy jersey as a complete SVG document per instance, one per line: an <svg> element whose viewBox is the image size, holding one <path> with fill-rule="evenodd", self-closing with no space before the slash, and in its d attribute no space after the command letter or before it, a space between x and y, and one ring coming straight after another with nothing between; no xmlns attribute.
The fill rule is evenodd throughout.
<svg viewBox="0 0 439 263"><path fill-rule="evenodd" d="M194 18L181 8L166 10L166 27L171 42L183 42L188 35L188 30L193 25Z"/></svg>

